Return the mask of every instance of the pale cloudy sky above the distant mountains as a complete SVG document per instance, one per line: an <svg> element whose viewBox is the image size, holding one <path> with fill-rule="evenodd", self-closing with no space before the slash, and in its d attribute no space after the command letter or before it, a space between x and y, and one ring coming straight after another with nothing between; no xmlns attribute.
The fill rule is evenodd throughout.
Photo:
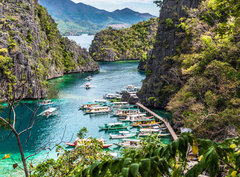
<svg viewBox="0 0 240 177"><path fill-rule="evenodd" d="M159 16L159 8L153 3L153 0L72 0L75 3L82 2L94 6L98 9L114 11L116 9L130 8L132 10L150 13Z"/></svg>

